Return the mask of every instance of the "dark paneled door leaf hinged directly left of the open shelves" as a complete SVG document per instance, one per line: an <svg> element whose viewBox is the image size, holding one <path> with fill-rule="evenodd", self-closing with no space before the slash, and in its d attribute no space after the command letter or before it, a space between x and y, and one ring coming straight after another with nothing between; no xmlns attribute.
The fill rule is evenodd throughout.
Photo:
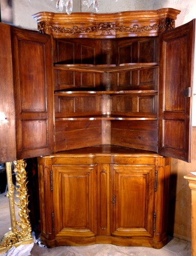
<svg viewBox="0 0 196 256"><path fill-rule="evenodd" d="M12 28L17 158L54 150L51 37Z"/></svg>

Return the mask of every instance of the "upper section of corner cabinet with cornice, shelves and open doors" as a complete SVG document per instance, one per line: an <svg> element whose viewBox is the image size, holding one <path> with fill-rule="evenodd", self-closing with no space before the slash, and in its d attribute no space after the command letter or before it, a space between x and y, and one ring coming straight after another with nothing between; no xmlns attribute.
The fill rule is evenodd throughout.
<svg viewBox="0 0 196 256"><path fill-rule="evenodd" d="M195 25L175 29L179 13L40 12L41 34L1 24L1 134L12 133L0 142L13 150L0 161L96 145L190 161Z"/></svg>

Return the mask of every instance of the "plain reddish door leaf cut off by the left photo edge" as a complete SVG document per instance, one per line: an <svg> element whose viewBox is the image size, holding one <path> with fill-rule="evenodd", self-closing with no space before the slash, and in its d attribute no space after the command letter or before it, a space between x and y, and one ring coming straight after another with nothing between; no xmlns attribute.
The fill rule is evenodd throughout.
<svg viewBox="0 0 196 256"><path fill-rule="evenodd" d="M0 163L16 159L10 26L0 23Z"/></svg>

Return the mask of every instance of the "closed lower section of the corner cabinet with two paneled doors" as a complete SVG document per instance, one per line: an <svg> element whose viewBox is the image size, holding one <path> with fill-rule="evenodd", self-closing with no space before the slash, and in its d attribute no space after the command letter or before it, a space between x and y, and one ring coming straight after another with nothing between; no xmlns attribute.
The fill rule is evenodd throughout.
<svg viewBox="0 0 196 256"><path fill-rule="evenodd" d="M38 158L41 240L48 247L167 242L170 158L58 154Z"/></svg>

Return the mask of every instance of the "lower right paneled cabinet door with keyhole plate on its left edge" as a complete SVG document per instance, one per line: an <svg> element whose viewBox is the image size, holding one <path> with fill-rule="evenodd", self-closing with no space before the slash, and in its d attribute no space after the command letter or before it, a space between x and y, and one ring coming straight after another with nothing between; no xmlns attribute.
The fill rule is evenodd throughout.
<svg viewBox="0 0 196 256"><path fill-rule="evenodd" d="M153 237L155 165L111 165L113 232L120 237Z"/></svg>

